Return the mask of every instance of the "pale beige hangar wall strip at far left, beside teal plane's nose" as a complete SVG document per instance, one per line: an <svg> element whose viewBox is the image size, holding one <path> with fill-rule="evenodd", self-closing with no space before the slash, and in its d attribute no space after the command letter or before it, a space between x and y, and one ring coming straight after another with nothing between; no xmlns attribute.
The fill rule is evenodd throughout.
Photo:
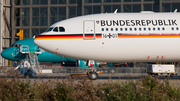
<svg viewBox="0 0 180 101"><path fill-rule="evenodd" d="M0 52L11 44L11 7L11 0L0 0ZM0 56L0 66L7 66L8 64L9 61Z"/></svg>

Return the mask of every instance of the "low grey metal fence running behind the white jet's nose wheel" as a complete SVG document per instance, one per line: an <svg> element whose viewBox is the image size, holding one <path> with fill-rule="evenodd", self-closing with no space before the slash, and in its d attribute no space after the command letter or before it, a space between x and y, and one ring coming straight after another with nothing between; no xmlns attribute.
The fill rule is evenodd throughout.
<svg viewBox="0 0 180 101"><path fill-rule="evenodd" d="M13 69L14 67L4 67L0 69L0 73L6 72L10 69ZM118 68L104 68L100 69L103 71L103 73L111 73L111 70L114 70L116 74L121 73L121 74L147 74L147 69L146 67L118 67ZM89 71L88 69L80 69L78 67L44 67L42 70L51 70L52 73L83 73ZM99 70L99 69L98 69ZM175 68L176 74L180 74L180 68Z"/></svg>

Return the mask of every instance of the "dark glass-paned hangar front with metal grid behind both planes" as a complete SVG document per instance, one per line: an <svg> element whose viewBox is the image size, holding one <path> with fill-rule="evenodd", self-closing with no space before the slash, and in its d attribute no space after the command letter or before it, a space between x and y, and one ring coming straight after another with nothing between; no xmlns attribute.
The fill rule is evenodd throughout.
<svg viewBox="0 0 180 101"><path fill-rule="evenodd" d="M3 0L1 0L3 1ZM18 40L16 33L24 30L24 39L32 38L44 32L50 25L57 21L68 19L75 16L95 14L95 13L112 13L118 9L120 12L173 12L175 9L180 11L180 0L4 0L10 3L11 13L6 11L7 18L11 18L10 24L12 31L8 33L6 26L7 38L11 41L4 44L10 45ZM8 4L7 3L7 4ZM2 5L1 5L2 6ZM1 7L2 8L2 7ZM3 7L4 8L4 7ZM2 10L1 10L2 13ZM10 15L11 14L11 15ZM1 20L4 20L1 18ZM3 35L1 31L1 35ZM2 38L1 38L2 39ZM2 41L1 41L2 42ZM11 43L10 43L11 42ZM2 43L1 43L2 44ZM5 47L8 45L2 45ZM3 48L1 48L3 49ZM0 59L1 60L1 59Z"/></svg>

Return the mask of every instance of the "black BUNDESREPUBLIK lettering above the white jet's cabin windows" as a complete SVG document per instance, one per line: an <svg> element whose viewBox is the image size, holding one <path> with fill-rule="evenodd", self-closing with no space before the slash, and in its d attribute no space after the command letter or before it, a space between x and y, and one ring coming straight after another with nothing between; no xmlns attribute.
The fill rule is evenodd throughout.
<svg viewBox="0 0 180 101"><path fill-rule="evenodd" d="M176 20L101 20L101 26L177 26Z"/></svg>

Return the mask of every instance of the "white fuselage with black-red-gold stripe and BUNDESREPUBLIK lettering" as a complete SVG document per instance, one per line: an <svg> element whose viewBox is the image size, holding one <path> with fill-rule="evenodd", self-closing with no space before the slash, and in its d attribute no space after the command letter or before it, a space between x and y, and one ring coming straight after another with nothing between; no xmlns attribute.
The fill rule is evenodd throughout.
<svg viewBox="0 0 180 101"><path fill-rule="evenodd" d="M59 28L63 27L65 31ZM51 53L102 62L180 61L180 13L110 13L75 17L35 38Z"/></svg>

